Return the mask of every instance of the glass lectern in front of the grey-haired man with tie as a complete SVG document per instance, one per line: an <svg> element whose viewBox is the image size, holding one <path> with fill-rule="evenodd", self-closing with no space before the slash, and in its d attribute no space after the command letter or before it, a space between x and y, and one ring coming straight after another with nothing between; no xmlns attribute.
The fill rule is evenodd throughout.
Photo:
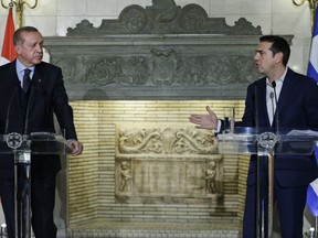
<svg viewBox="0 0 318 238"><path fill-rule="evenodd" d="M2 134L1 153L14 155L15 238L31 238L31 154L65 154L62 134Z"/></svg>

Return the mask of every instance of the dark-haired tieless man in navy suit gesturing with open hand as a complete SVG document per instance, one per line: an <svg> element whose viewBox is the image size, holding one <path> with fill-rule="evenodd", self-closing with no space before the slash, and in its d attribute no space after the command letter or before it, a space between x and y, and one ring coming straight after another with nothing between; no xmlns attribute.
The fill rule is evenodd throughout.
<svg viewBox="0 0 318 238"><path fill-rule="evenodd" d="M235 126L268 128L318 129L318 86L305 75L287 67L290 48L285 39L264 35L255 50L254 62L265 77L247 88L245 111ZM274 82L274 84L273 84ZM277 109L274 97L277 95ZM274 104L273 104L274 98ZM191 115L198 128L220 131L222 121L206 107L209 115ZM273 111L276 111L275 113ZM279 113L278 113L279 112ZM277 115L278 113L278 115ZM255 117L255 115L257 115ZM278 116L278 117L277 117ZM303 237L303 217L307 186L318 175L315 155L282 155L274 159L274 201L283 238ZM247 176L243 237L256 237L256 158L251 156Z"/></svg>

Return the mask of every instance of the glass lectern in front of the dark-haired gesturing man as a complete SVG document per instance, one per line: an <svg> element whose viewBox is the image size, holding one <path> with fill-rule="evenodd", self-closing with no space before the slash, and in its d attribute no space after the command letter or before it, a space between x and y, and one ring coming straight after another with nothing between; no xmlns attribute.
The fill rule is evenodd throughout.
<svg viewBox="0 0 318 238"><path fill-rule="evenodd" d="M220 154L257 155L256 237L273 237L274 214L274 155L309 155L318 133L310 130L280 129L278 132L259 128L235 128L232 133L218 134ZM262 177L268 181L262 182ZM264 187L265 186L265 187Z"/></svg>

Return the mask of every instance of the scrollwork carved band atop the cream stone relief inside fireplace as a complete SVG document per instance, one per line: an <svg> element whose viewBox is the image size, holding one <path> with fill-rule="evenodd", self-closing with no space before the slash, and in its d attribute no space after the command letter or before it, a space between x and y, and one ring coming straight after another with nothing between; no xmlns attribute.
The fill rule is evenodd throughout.
<svg viewBox="0 0 318 238"><path fill-rule="evenodd" d="M120 129L119 153L211 154L216 151L214 136L193 128Z"/></svg>

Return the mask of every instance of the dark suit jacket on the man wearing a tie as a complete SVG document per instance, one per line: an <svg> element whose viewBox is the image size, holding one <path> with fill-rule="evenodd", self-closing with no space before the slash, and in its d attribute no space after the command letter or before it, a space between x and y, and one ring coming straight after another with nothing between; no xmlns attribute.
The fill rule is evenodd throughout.
<svg viewBox="0 0 318 238"><path fill-rule="evenodd" d="M24 117L15 61L0 67L0 133L55 132L55 113L61 129L65 130L65 139L77 140L73 123L73 110L68 105L61 68L44 62L36 65L32 77L32 87L29 113ZM26 131L24 131L25 127ZM44 177L53 175L60 169L57 155L32 155L32 174ZM13 156L1 154L0 177L12 178L13 175Z"/></svg>

